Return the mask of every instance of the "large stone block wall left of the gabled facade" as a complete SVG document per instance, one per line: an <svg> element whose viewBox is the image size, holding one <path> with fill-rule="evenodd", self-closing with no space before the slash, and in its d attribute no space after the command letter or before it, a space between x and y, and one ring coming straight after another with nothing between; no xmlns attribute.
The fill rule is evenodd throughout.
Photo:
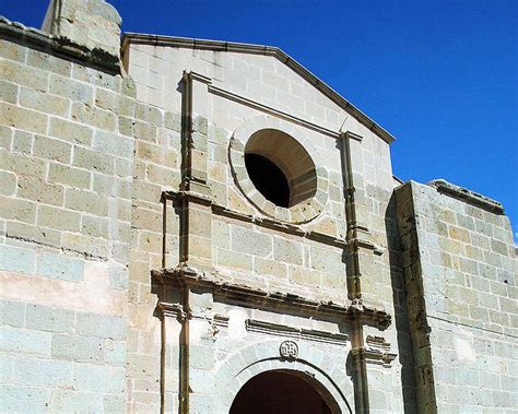
<svg viewBox="0 0 518 414"><path fill-rule="evenodd" d="M133 84L0 25L0 411L121 412Z"/></svg>

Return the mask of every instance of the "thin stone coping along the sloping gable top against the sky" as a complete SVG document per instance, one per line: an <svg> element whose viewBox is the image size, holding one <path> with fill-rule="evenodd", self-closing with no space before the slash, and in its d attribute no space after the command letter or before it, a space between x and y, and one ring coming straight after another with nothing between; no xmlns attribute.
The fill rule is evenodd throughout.
<svg viewBox="0 0 518 414"><path fill-rule="evenodd" d="M341 96L327 83L322 82L309 70L304 68L290 55L285 54L278 47L263 46L263 45L250 45L244 43L233 42L221 42L221 40L205 40L195 39L188 37L174 37L174 36L162 36L162 35L149 35L143 33L125 33L122 36L122 50L126 50L128 44L134 45L153 45L153 46L170 46L178 48L188 49L200 49L200 50L213 50L213 51L232 51L237 54L249 54L249 55L262 55L274 57L280 62L287 66L295 73L306 80L309 84L320 91L325 96L334 102L349 115L355 118L357 121L363 123L367 129L373 131L376 135L381 138L385 142L390 144L396 138L390 134L386 129L376 123L362 110L351 104L348 99ZM123 54L123 51L122 51Z"/></svg>

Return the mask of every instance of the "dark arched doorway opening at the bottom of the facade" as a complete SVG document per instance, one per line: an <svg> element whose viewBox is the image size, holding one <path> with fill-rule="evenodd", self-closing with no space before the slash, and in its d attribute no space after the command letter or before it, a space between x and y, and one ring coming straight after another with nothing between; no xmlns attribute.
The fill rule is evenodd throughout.
<svg viewBox="0 0 518 414"><path fill-rule="evenodd" d="M331 414L310 378L272 370L248 380L232 403L231 414Z"/></svg>

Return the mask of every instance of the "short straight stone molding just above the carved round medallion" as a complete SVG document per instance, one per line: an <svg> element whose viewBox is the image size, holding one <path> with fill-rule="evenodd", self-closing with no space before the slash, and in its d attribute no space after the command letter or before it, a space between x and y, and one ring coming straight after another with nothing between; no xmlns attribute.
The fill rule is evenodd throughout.
<svg viewBox="0 0 518 414"><path fill-rule="evenodd" d="M294 328L286 324L272 323L256 319L247 319L245 323L247 331L266 333L269 335L297 338L301 340L325 342L335 345L343 345L349 341L349 335L344 333L332 333L315 329Z"/></svg>

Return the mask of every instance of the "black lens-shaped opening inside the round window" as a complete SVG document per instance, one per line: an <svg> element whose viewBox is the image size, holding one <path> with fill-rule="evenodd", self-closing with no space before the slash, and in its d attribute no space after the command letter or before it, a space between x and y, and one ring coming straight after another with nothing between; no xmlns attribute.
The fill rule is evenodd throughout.
<svg viewBox="0 0 518 414"><path fill-rule="evenodd" d="M245 165L251 182L267 200L279 206L290 206L290 186L275 164L261 155L245 154Z"/></svg>

